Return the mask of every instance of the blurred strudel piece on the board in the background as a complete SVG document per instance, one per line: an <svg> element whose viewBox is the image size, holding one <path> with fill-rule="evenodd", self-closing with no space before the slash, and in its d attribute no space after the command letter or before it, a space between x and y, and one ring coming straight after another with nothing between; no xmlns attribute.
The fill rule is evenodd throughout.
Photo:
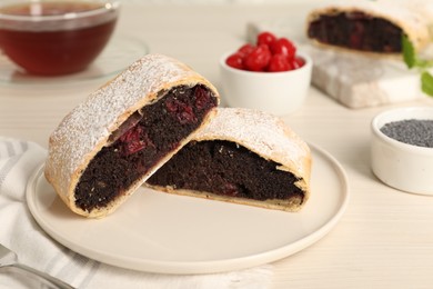
<svg viewBox="0 0 433 289"><path fill-rule="evenodd" d="M421 51L431 41L431 20L421 9L399 1L341 1L311 11L306 34L322 46L382 56L401 53L405 34Z"/></svg>

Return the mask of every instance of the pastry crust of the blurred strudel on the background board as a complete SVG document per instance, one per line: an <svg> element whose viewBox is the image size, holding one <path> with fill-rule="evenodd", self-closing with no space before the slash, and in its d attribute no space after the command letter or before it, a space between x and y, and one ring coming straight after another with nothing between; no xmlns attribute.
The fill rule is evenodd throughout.
<svg viewBox="0 0 433 289"><path fill-rule="evenodd" d="M420 11L415 9L407 9L407 7L385 1L343 1L336 4L326 6L312 10L306 18L306 30L309 26L321 16L333 16L338 13L350 12L363 12L367 16L384 19L400 29L407 36L409 40L413 43L415 51L424 49L429 42L431 42L431 36L429 32L429 19L425 19ZM308 34L308 33L306 33ZM384 52L370 52L359 51L349 48L336 47L328 43L322 43L315 39L310 40L322 47L341 49L351 52L358 52L370 56L399 56L401 53L384 53Z"/></svg>

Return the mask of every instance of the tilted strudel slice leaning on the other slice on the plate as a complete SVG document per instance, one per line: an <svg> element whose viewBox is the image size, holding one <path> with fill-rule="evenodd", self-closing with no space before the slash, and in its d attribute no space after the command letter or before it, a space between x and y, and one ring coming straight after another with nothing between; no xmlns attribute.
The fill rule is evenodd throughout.
<svg viewBox="0 0 433 289"><path fill-rule="evenodd" d="M187 143L218 103L203 77L148 54L61 121L50 137L46 177L72 211L103 217Z"/></svg>

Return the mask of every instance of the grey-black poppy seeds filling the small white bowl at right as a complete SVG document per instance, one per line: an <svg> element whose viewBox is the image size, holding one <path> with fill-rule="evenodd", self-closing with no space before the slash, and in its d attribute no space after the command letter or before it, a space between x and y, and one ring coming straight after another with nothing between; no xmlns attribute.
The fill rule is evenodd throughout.
<svg viewBox="0 0 433 289"><path fill-rule="evenodd" d="M433 148L433 120L406 119L385 123L381 131L397 141Z"/></svg>

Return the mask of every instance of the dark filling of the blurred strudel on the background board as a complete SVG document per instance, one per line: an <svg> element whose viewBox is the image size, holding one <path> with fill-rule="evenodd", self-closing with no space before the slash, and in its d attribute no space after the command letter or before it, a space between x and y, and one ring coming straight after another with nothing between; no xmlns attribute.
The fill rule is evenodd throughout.
<svg viewBox="0 0 433 289"><path fill-rule="evenodd" d="M308 34L319 42L353 50L402 51L402 30L399 27L361 11L323 14L310 23Z"/></svg>

